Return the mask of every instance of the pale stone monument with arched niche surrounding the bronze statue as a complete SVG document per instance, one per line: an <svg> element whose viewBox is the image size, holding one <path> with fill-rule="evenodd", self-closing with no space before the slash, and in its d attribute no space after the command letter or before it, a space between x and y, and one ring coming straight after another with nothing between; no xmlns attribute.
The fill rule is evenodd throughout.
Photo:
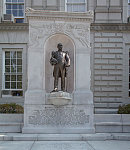
<svg viewBox="0 0 130 150"><path fill-rule="evenodd" d="M94 133L93 93L90 90L90 23L93 13L28 9L28 89L23 133ZM53 90L49 63L58 43L69 51L67 93ZM70 93L70 94L69 94Z"/></svg>

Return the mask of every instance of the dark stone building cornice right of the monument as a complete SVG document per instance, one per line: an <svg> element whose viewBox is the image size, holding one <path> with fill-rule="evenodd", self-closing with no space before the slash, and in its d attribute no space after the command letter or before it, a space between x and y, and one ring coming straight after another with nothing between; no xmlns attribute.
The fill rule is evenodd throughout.
<svg viewBox="0 0 130 150"><path fill-rule="evenodd" d="M130 31L130 23L92 23L91 31Z"/></svg>

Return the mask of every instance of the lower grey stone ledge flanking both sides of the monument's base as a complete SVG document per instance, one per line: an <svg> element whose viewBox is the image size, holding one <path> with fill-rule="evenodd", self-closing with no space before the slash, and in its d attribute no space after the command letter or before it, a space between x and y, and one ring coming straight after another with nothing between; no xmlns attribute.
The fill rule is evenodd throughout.
<svg viewBox="0 0 130 150"><path fill-rule="evenodd" d="M21 133L23 123L0 123L0 133ZM97 122L96 133L127 133L130 132L130 122Z"/></svg>

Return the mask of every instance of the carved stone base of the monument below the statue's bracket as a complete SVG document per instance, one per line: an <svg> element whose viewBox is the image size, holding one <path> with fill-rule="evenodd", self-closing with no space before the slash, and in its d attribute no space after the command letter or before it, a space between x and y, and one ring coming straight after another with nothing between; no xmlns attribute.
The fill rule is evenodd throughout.
<svg viewBox="0 0 130 150"><path fill-rule="evenodd" d="M23 133L94 133L91 105L28 106Z"/></svg>

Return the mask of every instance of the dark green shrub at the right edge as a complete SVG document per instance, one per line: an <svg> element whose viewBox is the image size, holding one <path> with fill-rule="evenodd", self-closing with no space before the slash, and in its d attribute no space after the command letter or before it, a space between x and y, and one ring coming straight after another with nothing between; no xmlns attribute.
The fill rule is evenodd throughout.
<svg viewBox="0 0 130 150"><path fill-rule="evenodd" d="M130 104L119 106L118 114L130 114Z"/></svg>

